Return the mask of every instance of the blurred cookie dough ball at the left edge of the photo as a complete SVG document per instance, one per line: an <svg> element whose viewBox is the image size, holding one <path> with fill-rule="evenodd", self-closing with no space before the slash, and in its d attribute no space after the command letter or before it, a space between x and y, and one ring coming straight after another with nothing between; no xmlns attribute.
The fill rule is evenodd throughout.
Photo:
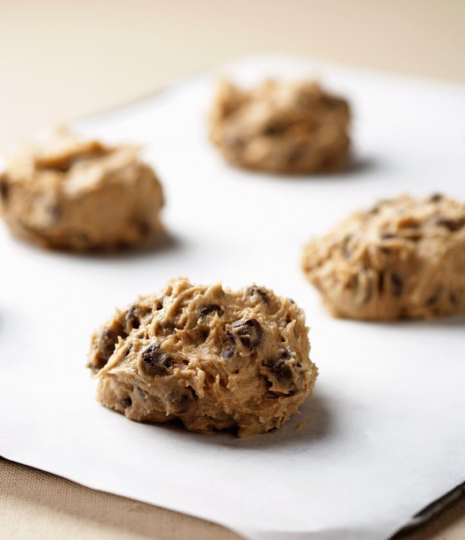
<svg viewBox="0 0 465 540"><path fill-rule="evenodd" d="M114 249L161 232L160 182L130 146L67 130L25 146L0 176L0 213L18 237L57 249Z"/></svg>

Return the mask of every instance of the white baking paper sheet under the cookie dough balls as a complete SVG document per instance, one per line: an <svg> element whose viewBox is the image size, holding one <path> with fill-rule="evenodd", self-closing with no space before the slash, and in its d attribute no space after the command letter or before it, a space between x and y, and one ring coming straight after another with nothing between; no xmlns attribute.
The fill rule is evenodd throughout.
<svg viewBox="0 0 465 540"><path fill-rule="evenodd" d="M350 171L285 178L223 163L205 121L218 73L242 84L317 76L348 96ZM392 534L465 478L465 318L333 319L300 272L300 249L377 198L465 199L464 119L460 87L261 56L76 124L145 144L171 240L145 253L73 255L40 251L1 227L0 454L249 538ZM95 401L84 367L93 329L179 275L255 281L305 309L320 375L282 429L246 440L197 435L131 422Z"/></svg>

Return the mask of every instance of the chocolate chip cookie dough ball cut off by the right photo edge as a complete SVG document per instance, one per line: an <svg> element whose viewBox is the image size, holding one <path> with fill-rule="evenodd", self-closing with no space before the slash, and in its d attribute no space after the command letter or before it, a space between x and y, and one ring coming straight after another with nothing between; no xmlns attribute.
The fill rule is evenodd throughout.
<svg viewBox="0 0 465 540"><path fill-rule="evenodd" d="M460 313L465 310L465 204L440 194L379 201L311 241L302 265L337 317Z"/></svg>

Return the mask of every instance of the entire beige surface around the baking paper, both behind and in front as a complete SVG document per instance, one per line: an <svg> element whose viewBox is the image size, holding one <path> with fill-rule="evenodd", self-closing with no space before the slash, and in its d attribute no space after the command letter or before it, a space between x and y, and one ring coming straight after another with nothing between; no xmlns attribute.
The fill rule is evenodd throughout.
<svg viewBox="0 0 465 540"><path fill-rule="evenodd" d="M465 83L464 0L0 0L0 146L250 52ZM2 538L238 538L0 460ZM465 538L465 501L411 540Z"/></svg>

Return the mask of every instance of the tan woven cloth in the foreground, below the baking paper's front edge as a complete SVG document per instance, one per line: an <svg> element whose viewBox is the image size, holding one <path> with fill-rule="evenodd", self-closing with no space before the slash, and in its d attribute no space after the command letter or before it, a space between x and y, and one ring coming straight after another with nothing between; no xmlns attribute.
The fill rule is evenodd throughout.
<svg viewBox="0 0 465 540"><path fill-rule="evenodd" d="M465 497L404 540L463 540ZM0 458L0 536L50 540L240 540L195 517L85 488Z"/></svg>

